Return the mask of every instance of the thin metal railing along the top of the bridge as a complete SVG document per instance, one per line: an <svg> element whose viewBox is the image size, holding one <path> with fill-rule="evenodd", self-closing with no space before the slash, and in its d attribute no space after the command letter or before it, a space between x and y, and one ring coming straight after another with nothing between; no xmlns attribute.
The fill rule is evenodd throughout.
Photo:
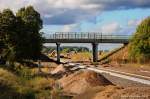
<svg viewBox="0 0 150 99"><path fill-rule="evenodd" d="M102 33L55 33L46 35L46 39L129 39L130 35L105 35Z"/></svg>

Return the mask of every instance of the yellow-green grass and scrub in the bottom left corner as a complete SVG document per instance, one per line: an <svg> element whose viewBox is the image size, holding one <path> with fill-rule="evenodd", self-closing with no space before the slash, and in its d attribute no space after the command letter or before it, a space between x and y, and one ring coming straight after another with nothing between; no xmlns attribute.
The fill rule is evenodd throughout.
<svg viewBox="0 0 150 99"><path fill-rule="evenodd" d="M35 71L19 67L13 71L0 68L0 99L63 99L61 89L55 88L55 80L35 76ZM26 75L29 75L28 77Z"/></svg>

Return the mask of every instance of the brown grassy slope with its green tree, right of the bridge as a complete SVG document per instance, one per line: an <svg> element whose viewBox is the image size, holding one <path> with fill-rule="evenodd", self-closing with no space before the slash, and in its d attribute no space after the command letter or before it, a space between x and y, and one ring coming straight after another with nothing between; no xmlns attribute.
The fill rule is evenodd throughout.
<svg viewBox="0 0 150 99"><path fill-rule="evenodd" d="M110 52L110 53L113 53ZM105 55L107 56L107 54ZM107 58L116 63L150 63L150 17L146 18L137 27L136 33L125 48ZM106 60L104 60L106 61Z"/></svg>

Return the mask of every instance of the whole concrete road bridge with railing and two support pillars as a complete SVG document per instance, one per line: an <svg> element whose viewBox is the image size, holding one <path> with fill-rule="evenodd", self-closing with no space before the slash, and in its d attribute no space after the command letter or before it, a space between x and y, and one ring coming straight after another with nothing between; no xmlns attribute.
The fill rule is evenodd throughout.
<svg viewBox="0 0 150 99"><path fill-rule="evenodd" d="M91 43L93 49L93 62L98 60L98 43L128 44L130 35L105 35L95 32L56 32L45 36L44 43L56 43L57 61L60 62L61 43Z"/></svg>

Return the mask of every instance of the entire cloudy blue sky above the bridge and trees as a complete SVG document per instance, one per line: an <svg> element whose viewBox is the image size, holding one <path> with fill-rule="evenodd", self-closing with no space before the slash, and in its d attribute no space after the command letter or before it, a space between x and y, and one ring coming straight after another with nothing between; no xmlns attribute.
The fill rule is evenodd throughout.
<svg viewBox="0 0 150 99"><path fill-rule="evenodd" d="M150 0L0 0L0 11L32 5L43 19L45 34L100 32L131 35L150 16Z"/></svg>

